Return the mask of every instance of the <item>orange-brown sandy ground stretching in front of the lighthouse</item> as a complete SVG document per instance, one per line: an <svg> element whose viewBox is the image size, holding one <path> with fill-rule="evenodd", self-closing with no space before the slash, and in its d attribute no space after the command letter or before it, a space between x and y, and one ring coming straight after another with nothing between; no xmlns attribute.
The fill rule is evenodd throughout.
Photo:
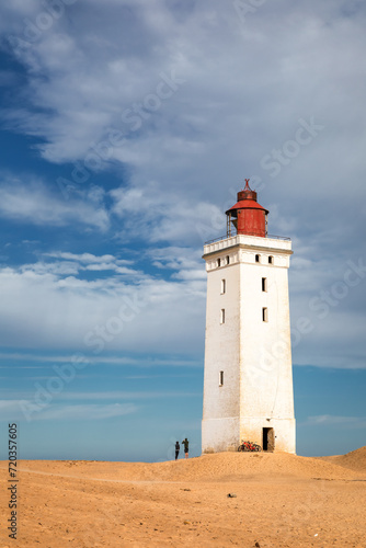
<svg viewBox="0 0 366 548"><path fill-rule="evenodd" d="M7 530L7 466L0 463L0 548L366 547L366 447L323 458L22 460L16 540Z"/></svg>

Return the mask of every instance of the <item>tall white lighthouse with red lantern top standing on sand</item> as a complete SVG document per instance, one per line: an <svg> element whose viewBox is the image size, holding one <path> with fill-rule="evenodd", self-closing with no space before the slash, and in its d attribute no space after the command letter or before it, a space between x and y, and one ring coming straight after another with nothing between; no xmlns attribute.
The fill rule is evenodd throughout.
<svg viewBox="0 0 366 548"><path fill-rule="evenodd" d="M249 186L226 212L227 233L204 246L207 271L202 452L241 439L295 453L289 238L268 236Z"/></svg>

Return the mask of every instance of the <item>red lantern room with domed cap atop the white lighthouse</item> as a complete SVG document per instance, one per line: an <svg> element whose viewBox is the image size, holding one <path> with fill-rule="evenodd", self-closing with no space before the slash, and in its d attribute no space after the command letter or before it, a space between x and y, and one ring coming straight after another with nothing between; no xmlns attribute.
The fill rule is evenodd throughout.
<svg viewBox="0 0 366 548"><path fill-rule="evenodd" d="M256 202L256 192L249 186L249 179L245 179L245 187L238 192L238 202L226 212L227 215L227 237L231 236L235 226L238 235L261 236L267 235L267 215Z"/></svg>

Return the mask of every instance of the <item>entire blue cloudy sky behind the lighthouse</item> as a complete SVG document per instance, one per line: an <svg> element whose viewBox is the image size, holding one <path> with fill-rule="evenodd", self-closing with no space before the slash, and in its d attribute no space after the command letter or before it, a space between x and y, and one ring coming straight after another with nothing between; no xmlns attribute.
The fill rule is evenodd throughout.
<svg viewBox="0 0 366 548"><path fill-rule="evenodd" d="M199 454L203 243L244 178L293 240L298 453L365 444L366 9L259 3L0 7L0 436L18 421L23 458Z"/></svg>

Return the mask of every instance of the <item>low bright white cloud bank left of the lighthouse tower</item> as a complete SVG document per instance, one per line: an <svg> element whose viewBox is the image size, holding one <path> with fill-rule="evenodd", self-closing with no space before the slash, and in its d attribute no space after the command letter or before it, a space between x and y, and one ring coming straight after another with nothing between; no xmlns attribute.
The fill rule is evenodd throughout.
<svg viewBox="0 0 366 548"><path fill-rule="evenodd" d="M66 347L85 354L117 350L194 355L201 350L205 283L169 282L138 271L128 271L124 282L118 271L126 267L102 277L96 270L96 277L85 279L79 273L70 275L70 270L69 261L62 260L49 267L39 262L0 270L2 345Z"/></svg>

